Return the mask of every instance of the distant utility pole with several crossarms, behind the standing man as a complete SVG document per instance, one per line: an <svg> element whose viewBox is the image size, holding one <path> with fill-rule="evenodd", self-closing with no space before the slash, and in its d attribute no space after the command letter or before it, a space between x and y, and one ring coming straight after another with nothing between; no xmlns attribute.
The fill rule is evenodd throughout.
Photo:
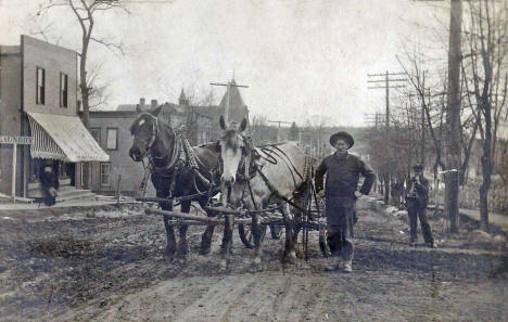
<svg viewBox="0 0 508 322"><path fill-rule="evenodd" d="M385 103L386 103L386 112L385 112L385 119L384 119L384 127L385 127L385 138L384 142L385 145L388 146L389 140L390 140L390 89L391 88L402 88L406 87L405 85L399 85L401 81L407 81L406 78L390 78L391 76L402 76L406 75L406 73L389 73L388 70L383 74L368 74L368 77L371 77L373 79L367 80L367 82L384 82L384 86L372 86L369 87L368 89L384 89L385 90ZM380 79L379 77L384 76L384 79ZM394 85L391 85L394 83ZM384 181L384 204L390 203L390 156L386 156L384 158L384 169L383 171L383 181Z"/></svg>

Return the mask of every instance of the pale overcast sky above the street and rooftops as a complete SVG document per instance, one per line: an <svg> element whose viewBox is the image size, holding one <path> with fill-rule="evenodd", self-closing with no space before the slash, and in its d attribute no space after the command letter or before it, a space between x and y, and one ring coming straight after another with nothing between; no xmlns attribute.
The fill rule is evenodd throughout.
<svg viewBox="0 0 508 322"><path fill-rule="evenodd" d="M53 0L61 1L61 0ZM415 0L119 0L102 12L94 35L122 42L124 54L93 43L107 103L143 96L177 102L181 88L216 103L234 77L251 115L297 125L363 126L384 111L384 90L367 74L401 72L416 50L446 62L448 3ZM48 29L50 42L78 50L80 29L67 8L36 16L49 0L0 0L0 44ZM40 38L40 36L35 36ZM395 94L395 93L394 93Z"/></svg>

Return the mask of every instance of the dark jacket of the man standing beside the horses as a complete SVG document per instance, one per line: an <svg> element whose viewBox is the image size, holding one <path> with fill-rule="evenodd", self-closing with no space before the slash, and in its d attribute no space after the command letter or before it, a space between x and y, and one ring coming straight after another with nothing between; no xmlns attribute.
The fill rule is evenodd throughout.
<svg viewBox="0 0 508 322"><path fill-rule="evenodd" d="M355 198L358 188L359 175L365 177L359 192L369 194L376 180L376 175L358 156L346 153L343 156L336 154L325 157L316 169L316 190L322 190L323 176L327 173L325 188L326 197Z"/></svg>

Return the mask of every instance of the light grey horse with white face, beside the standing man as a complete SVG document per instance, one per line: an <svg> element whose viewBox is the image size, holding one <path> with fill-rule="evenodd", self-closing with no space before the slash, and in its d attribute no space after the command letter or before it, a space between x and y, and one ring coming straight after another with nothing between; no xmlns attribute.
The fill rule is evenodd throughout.
<svg viewBox="0 0 508 322"><path fill-rule="evenodd" d="M309 160L305 153L292 143L272 144L264 147L253 146L250 139L243 136L246 119L239 127L227 126L219 119L223 137L217 143L223 164L221 196L223 203L233 207L262 210L267 206L279 208L285 229L285 244L282 261L292 262L296 258L296 236L301 222L304 192L308 186L306 172ZM261 268L261 241L266 226L259 224L258 215L252 212L251 232L254 239L253 267Z"/></svg>

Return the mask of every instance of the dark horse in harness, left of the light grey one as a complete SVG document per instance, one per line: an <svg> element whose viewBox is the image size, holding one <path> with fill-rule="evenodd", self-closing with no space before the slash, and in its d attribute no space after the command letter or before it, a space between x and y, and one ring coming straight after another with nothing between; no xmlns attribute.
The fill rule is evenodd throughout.
<svg viewBox="0 0 508 322"><path fill-rule="evenodd" d="M138 117L130 126L134 136L129 156L135 162L141 162L145 156L152 164L151 180L156 190L158 198L168 198L168 202L160 202L164 210L173 210L172 197L196 195L198 201L204 208L209 197L216 193L212 192L211 184L219 184L219 159L215 151L215 144L186 149L185 141L173 130L170 126L157 118L162 105L143 112L137 106ZM191 151L189 151L191 150ZM192 157L191 154L195 157ZM195 162L193 162L195 160ZM189 212L191 199L181 199L181 211ZM207 216L214 216L207 212ZM180 239L177 246L174 224L169 222L170 216L164 216L166 228L166 256L185 258L188 253L186 233L188 226L179 226ZM202 235L200 253L205 255L211 250L212 235L215 226L208 226ZM225 230L225 237L226 230Z"/></svg>

